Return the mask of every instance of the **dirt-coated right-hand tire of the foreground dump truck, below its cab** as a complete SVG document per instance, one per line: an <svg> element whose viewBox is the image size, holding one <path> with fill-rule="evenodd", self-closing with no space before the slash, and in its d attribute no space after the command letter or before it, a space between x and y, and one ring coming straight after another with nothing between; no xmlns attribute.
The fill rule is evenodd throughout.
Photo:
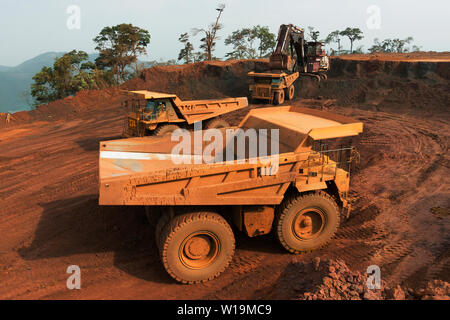
<svg viewBox="0 0 450 320"><path fill-rule="evenodd" d="M326 192L299 195L285 201L275 222L276 237L292 253L325 246L339 227L339 208Z"/></svg>

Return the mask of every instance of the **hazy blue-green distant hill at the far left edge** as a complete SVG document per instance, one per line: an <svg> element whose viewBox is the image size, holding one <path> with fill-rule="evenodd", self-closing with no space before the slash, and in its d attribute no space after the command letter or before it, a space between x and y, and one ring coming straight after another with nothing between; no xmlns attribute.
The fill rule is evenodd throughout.
<svg viewBox="0 0 450 320"><path fill-rule="evenodd" d="M0 112L30 110L32 77L42 67L53 66L55 59L64 53L46 52L15 67L0 66ZM97 56L98 54L90 54L89 60L94 61Z"/></svg>

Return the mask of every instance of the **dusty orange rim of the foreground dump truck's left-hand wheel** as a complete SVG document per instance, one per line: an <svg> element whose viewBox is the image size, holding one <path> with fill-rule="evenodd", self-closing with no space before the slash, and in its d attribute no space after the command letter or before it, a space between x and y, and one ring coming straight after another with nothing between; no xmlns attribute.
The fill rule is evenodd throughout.
<svg viewBox="0 0 450 320"><path fill-rule="evenodd" d="M194 232L180 246L179 258L189 269L203 269L210 266L217 258L220 242L209 231Z"/></svg>

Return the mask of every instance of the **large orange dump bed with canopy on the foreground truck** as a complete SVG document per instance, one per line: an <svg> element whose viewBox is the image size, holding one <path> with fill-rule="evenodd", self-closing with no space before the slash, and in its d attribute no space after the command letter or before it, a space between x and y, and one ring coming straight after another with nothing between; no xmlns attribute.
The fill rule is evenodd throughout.
<svg viewBox="0 0 450 320"><path fill-rule="evenodd" d="M193 144L189 155L172 155L178 142L171 141L170 136L101 142L99 203L279 204L291 183L310 179L308 170L314 167L315 161L311 158L310 139L357 135L362 131L362 124L353 119L293 107L254 109L239 127L243 130L279 129L279 153L271 161L264 157L248 157L201 163L201 150ZM184 163L180 164L181 160ZM327 159L327 163L327 168L322 169L320 183L346 175L332 160ZM275 170L275 174L271 170ZM316 181L309 182L313 185Z"/></svg>

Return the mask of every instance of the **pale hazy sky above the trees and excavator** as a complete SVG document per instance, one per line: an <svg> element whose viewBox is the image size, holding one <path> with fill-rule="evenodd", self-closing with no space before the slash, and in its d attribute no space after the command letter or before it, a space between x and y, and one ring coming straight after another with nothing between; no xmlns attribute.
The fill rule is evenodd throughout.
<svg viewBox="0 0 450 320"><path fill-rule="evenodd" d="M208 26L219 3L226 7L217 57L231 51L223 42L234 30L259 24L276 34L280 24L288 23L314 26L320 38L358 27L364 39L355 47L365 50L374 38L408 36L422 50L450 50L448 0L0 0L0 65L15 66L48 51L93 53L92 39L103 27L120 23L150 32L148 55L142 60L176 59L182 47L179 35ZM192 38L196 49L199 39ZM343 46L348 49L348 40Z"/></svg>

